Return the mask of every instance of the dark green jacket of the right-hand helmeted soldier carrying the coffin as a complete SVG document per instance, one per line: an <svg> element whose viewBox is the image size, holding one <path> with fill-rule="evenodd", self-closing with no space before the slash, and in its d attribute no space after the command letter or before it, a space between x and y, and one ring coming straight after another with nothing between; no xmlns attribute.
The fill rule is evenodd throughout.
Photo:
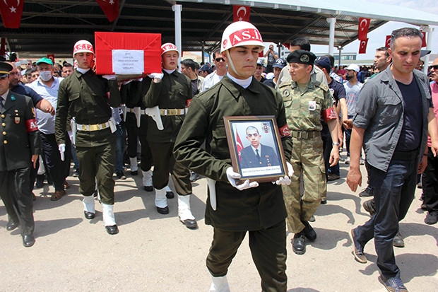
<svg viewBox="0 0 438 292"><path fill-rule="evenodd" d="M173 71L172 74L162 72L164 76L161 82L150 82L150 87L144 95L144 103L146 107L155 107L158 105L160 109L184 109L189 100L191 100L191 83L189 77ZM148 77L147 77L148 78ZM149 78L150 79L150 78ZM148 86L146 81L142 81L142 90ZM185 115L168 115L161 116L163 130L159 130L155 121L148 117L148 134L147 139L154 143L174 143L177 139L179 129Z"/></svg>

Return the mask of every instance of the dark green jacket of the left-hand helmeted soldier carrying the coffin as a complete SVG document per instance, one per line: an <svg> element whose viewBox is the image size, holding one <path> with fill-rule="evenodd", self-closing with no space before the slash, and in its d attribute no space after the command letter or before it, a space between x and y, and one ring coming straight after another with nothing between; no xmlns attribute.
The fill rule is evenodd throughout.
<svg viewBox="0 0 438 292"><path fill-rule="evenodd" d="M117 81L108 81L97 76L92 70L81 74L75 69L73 74L59 84L58 105L55 118L57 144L65 144L66 131L70 129L70 119L75 117L78 124L103 124L111 117L111 108L121 103ZM94 147L112 143L115 137L110 129L76 134L76 146Z"/></svg>

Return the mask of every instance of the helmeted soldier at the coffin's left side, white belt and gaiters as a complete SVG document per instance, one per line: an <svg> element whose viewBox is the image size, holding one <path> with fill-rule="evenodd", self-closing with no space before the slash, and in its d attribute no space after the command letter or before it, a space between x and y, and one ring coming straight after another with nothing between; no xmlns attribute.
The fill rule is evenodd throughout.
<svg viewBox="0 0 438 292"><path fill-rule="evenodd" d="M97 76L93 64L93 45L86 40L76 42L73 58L78 68L59 85L55 119L55 136L61 158L64 156L67 122L73 117L73 140L79 159L79 191L83 194L84 215L95 217L95 181L102 202L102 216L107 233L117 234L119 228L114 218L114 173L116 136L111 107L121 103L117 81ZM68 120L69 119L69 120ZM76 127L76 129L74 128ZM77 132L76 132L77 130ZM74 134L76 132L76 135Z"/></svg>

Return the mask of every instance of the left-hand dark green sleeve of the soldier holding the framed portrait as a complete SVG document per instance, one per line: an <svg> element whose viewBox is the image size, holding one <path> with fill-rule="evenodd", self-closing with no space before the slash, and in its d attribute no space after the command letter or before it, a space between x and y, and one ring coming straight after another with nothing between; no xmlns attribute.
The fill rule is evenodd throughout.
<svg viewBox="0 0 438 292"><path fill-rule="evenodd" d="M174 157L177 162L195 173L213 180L227 182L226 170L231 165L224 160L214 158L201 148L203 141L208 136L209 127L211 126L206 106L202 100L194 98L177 136Z"/></svg>

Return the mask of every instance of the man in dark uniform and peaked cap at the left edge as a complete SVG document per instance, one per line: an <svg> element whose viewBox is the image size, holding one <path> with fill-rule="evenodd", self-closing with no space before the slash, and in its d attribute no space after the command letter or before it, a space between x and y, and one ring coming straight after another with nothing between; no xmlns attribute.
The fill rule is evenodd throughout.
<svg viewBox="0 0 438 292"><path fill-rule="evenodd" d="M20 225L23 245L30 247L35 243L30 168L41 151L40 136L32 100L8 89L12 68L0 62L0 196L9 217L6 229Z"/></svg>

